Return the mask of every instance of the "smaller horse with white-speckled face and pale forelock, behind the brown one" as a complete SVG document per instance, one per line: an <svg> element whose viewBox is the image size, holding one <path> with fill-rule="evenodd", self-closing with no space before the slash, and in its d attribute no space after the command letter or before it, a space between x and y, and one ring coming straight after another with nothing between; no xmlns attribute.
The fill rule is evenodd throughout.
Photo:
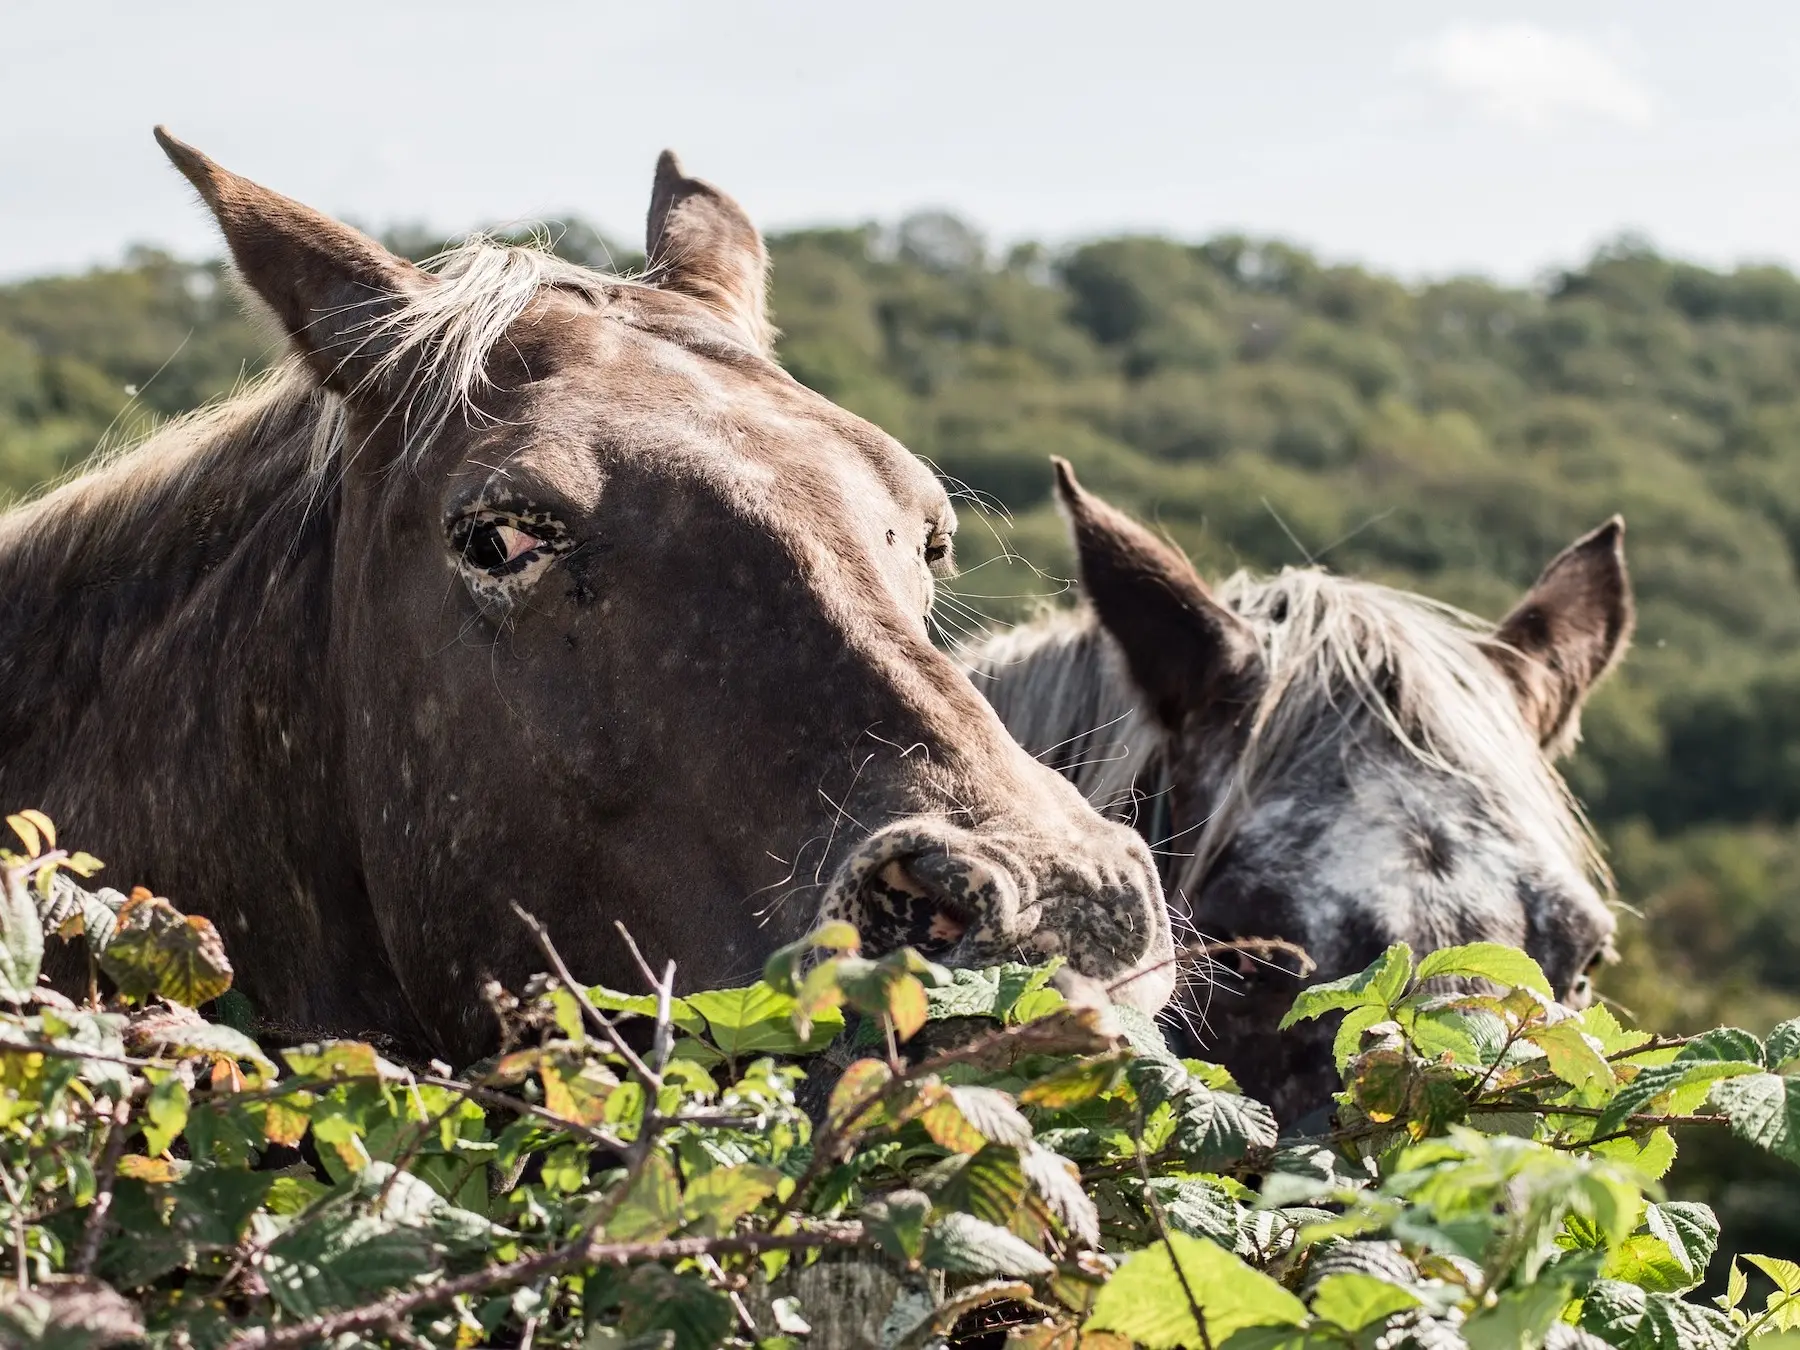
<svg viewBox="0 0 1800 1350"><path fill-rule="evenodd" d="M1318 567L1213 590L1170 544L1058 464L1089 610L999 639L977 684L1031 749L1163 850L1177 914L1233 954L1181 999L1208 1053L1294 1118L1337 1078L1330 1028L1276 1033L1300 976L1395 941L1501 941L1568 1003L1591 997L1613 914L1552 763L1633 623L1613 520L1499 625Z"/></svg>

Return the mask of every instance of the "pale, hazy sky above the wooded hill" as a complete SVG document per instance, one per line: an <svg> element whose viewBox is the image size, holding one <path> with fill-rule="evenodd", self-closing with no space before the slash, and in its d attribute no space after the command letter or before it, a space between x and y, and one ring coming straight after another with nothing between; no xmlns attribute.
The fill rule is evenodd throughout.
<svg viewBox="0 0 1800 1350"><path fill-rule="evenodd" d="M635 239L662 146L765 229L1274 234L1528 279L1800 263L1800 5L0 0L0 275L211 252L153 122L324 211Z"/></svg>

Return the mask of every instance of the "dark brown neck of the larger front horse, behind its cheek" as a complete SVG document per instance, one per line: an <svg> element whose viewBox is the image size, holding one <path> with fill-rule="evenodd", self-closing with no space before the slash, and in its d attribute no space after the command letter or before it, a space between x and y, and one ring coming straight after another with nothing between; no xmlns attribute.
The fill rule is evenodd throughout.
<svg viewBox="0 0 1800 1350"><path fill-rule="evenodd" d="M216 918L324 844L322 414L277 378L0 517L0 801Z"/></svg>

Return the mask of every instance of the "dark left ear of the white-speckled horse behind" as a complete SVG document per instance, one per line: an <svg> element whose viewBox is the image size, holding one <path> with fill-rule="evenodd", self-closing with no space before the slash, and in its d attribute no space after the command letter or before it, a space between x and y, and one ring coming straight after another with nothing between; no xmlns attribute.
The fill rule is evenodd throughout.
<svg viewBox="0 0 1800 1350"><path fill-rule="evenodd" d="M1197 706L1238 688L1256 666L1256 641L1181 553L1082 488L1066 459L1051 463L1087 601L1150 711L1174 729Z"/></svg>

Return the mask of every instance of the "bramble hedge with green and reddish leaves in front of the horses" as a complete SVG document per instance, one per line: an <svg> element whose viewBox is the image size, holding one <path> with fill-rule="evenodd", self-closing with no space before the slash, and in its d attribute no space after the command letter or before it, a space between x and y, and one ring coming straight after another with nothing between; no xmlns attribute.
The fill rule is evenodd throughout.
<svg viewBox="0 0 1800 1350"><path fill-rule="evenodd" d="M866 958L839 923L749 988L677 995L639 959L623 994L520 911L549 974L486 990L493 1058L277 1062L227 1024L211 923L86 889L92 859L9 821L7 1345L841 1350L846 1312L896 1348L1706 1350L1800 1327L1789 1262L1748 1258L1760 1307L1737 1265L1699 1301L1717 1222L1658 1190L1678 1129L1800 1161L1800 1019L1656 1037L1559 1008L1512 949L1393 947L1289 1013L1341 1015L1345 1087L1330 1134L1285 1138L1046 967ZM86 945L79 1004L40 979L47 934Z"/></svg>

